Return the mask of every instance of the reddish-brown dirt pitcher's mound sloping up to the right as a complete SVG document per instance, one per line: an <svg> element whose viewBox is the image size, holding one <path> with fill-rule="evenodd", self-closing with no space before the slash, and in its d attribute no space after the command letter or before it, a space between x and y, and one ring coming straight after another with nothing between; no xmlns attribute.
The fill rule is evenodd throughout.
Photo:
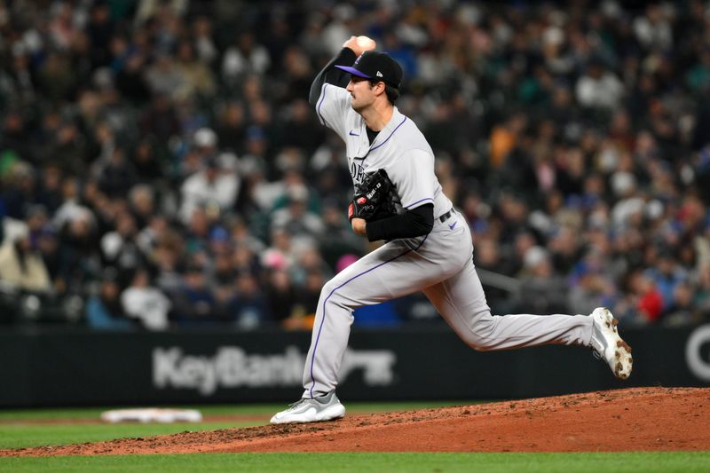
<svg viewBox="0 0 710 473"><path fill-rule="evenodd" d="M635 388L335 422L0 450L0 456L195 452L710 450L710 389Z"/></svg>

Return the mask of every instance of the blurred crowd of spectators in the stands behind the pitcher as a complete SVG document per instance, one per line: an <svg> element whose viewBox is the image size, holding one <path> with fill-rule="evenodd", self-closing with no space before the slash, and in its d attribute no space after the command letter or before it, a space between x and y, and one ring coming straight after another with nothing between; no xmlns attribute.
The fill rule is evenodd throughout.
<svg viewBox="0 0 710 473"><path fill-rule="evenodd" d="M0 321L308 328L371 249L307 103L360 34L404 68L494 313L710 319L707 2L0 0Z"/></svg>

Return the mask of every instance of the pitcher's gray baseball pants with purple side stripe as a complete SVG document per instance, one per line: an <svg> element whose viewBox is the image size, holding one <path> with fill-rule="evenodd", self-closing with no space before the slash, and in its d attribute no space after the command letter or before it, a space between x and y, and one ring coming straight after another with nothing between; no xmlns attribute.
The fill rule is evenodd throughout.
<svg viewBox="0 0 710 473"><path fill-rule="evenodd" d="M393 240L351 264L320 293L304 367L304 398L335 390L352 311L423 291L471 348L508 350L548 343L588 345L586 315L491 315L471 255L469 226L458 212L434 220L426 237Z"/></svg>

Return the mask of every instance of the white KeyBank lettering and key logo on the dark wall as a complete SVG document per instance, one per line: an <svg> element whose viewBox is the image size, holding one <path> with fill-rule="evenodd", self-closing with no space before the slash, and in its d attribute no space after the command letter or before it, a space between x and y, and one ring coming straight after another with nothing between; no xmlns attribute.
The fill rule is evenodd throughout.
<svg viewBox="0 0 710 473"><path fill-rule="evenodd" d="M198 390L209 396L218 389L300 386L305 353L288 346L283 353L248 353L241 347L218 347L214 355L190 355L179 347L153 351L153 384L161 390ZM394 379L393 351L345 351L341 381L361 370L367 386L388 386Z"/></svg>

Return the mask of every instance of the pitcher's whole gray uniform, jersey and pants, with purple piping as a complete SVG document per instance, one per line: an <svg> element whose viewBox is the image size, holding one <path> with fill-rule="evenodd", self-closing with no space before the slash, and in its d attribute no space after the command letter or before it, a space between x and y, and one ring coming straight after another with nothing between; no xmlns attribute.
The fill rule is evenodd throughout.
<svg viewBox="0 0 710 473"><path fill-rule="evenodd" d="M366 172L385 169L405 209L433 203L435 218L428 235L389 241L323 286L304 367L304 398L335 390L354 309L416 291L476 350L589 345L592 318L586 315L491 315L472 260L469 225L442 193L434 154L422 132L397 107L372 143L343 88L325 83L316 111L343 138L353 184Z"/></svg>

